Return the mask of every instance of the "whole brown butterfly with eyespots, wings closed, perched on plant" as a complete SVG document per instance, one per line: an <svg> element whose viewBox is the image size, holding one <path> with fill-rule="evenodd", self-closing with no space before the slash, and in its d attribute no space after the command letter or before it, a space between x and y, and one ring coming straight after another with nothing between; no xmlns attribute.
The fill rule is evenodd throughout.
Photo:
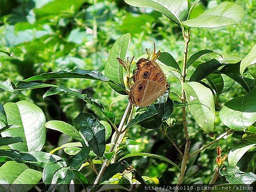
<svg viewBox="0 0 256 192"><path fill-rule="evenodd" d="M151 105L169 87L163 70L154 60L141 58L133 76L134 84L130 89L129 100L141 108Z"/></svg>

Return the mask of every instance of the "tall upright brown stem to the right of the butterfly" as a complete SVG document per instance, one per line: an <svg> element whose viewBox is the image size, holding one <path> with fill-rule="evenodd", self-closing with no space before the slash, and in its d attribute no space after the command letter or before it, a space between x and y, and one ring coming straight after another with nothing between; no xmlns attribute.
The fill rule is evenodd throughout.
<svg viewBox="0 0 256 192"><path fill-rule="evenodd" d="M189 46L189 41L190 41L190 32L188 31L187 34L183 34L184 40L185 40L185 47L184 47L184 61L183 61L183 70L182 70L182 77L181 77L181 92L182 92L182 103L186 105L186 93L184 90L184 83L186 81L186 74L187 74L187 69L186 69L186 62L187 62L187 56L188 56L188 46ZM182 163L181 163L181 168L180 168L180 176L177 182L177 186L182 184L183 177L185 174L186 170L186 164L189 160L189 148L190 148L190 140L189 140L189 132L188 132L188 125L186 121L186 106L182 107L182 119L183 119L183 128L184 128L184 134L185 134L185 139L186 139L186 145L185 145L185 151L184 155L182 158ZM178 191L178 190L175 190Z"/></svg>

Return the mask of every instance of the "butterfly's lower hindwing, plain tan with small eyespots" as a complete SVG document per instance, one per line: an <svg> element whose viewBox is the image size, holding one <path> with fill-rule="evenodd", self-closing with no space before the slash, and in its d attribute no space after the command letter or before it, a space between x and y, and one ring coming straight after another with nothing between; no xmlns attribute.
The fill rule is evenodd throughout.
<svg viewBox="0 0 256 192"><path fill-rule="evenodd" d="M141 108L151 105L158 97L162 96L167 86L148 80L137 80L130 89L129 100Z"/></svg>

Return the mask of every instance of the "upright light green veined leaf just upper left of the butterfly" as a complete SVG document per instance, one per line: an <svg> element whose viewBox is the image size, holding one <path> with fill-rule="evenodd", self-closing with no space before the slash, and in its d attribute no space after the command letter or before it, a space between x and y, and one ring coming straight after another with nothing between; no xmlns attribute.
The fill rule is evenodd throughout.
<svg viewBox="0 0 256 192"><path fill-rule="evenodd" d="M119 61L116 58L119 57L122 60L125 60L126 54L129 49L130 40L130 33L126 33L120 36L113 44L113 47L111 48L108 56L108 60L105 64L105 76L111 79L116 84L124 85L123 67L119 64ZM118 93L120 92L118 87L113 86L113 84L110 85Z"/></svg>

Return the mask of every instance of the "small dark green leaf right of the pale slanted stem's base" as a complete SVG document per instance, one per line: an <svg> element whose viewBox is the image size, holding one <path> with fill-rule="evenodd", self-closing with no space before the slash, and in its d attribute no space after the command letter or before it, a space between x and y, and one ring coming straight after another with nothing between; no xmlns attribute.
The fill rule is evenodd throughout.
<svg viewBox="0 0 256 192"><path fill-rule="evenodd" d="M113 175L116 175L116 173L119 172L123 172L128 167L130 167L130 165L126 161L119 161L109 164L101 177L100 183L109 180L111 177L113 177Z"/></svg>

